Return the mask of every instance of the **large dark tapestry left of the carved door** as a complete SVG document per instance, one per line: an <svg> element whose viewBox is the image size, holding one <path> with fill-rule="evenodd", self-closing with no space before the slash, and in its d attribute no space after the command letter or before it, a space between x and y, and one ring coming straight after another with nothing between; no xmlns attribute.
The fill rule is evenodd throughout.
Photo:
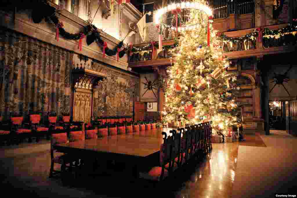
<svg viewBox="0 0 297 198"><path fill-rule="evenodd" d="M8 30L0 32L1 104L4 119L30 112L69 113L73 54ZM3 72L4 68L4 72Z"/></svg>

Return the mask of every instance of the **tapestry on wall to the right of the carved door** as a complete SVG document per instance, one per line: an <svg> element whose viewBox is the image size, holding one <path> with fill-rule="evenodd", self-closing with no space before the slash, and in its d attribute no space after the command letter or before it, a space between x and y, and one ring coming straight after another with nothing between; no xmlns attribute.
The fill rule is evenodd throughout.
<svg viewBox="0 0 297 198"><path fill-rule="evenodd" d="M139 96L139 83L130 78L108 74L99 82L94 99L94 117L133 115L133 101Z"/></svg>

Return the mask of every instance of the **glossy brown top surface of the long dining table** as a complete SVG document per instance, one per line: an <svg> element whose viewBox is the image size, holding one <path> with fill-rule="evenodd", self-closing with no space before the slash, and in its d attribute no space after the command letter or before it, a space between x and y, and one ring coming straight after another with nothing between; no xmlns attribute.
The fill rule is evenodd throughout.
<svg viewBox="0 0 297 198"><path fill-rule="evenodd" d="M160 145L163 143L161 132L162 129L153 129L138 134L114 135L93 140L58 144L53 147L58 150L87 150L146 157L160 150Z"/></svg>

